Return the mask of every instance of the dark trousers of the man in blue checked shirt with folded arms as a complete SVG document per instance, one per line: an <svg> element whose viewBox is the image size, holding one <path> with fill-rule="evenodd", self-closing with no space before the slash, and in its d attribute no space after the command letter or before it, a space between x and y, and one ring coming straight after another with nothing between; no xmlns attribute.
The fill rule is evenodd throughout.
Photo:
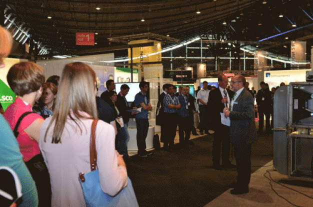
<svg viewBox="0 0 313 207"><path fill-rule="evenodd" d="M176 135L177 128L177 113L166 113L164 112L164 149L174 146L174 138Z"/></svg>

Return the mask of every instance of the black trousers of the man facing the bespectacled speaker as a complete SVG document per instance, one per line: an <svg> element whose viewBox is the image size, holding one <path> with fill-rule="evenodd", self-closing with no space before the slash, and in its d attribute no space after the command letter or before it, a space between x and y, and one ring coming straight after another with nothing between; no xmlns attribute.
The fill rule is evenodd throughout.
<svg viewBox="0 0 313 207"><path fill-rule="evenodd" d="M220 147L222 164L227 164L229 163L229 150L230 150L229 126L223 124L220 124L215 127L212 150L212 160L213 164L215 165L219 164Z"/></svg>

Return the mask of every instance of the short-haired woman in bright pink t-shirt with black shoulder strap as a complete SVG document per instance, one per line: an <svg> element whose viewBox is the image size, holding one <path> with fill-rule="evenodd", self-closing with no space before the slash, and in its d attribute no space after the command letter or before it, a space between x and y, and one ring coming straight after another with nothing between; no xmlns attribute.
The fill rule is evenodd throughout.
<svg viewBox="0 0 313 207"><path fill-rule="evenodd" d="M6 79L16 94L16 98L6 108L3 116L13 130L19 117L24 112L31 112L34 102L40 98L44 82L44 69L33 62L19 62L10 67ZM35 181L39 206L50 206L50 179L38 145L39 130L43 121L43 117L37 113L27 114L19 123L16 140L23 161ZM42 168L34 166L39 162L42 162L40 163Z"/></svg>

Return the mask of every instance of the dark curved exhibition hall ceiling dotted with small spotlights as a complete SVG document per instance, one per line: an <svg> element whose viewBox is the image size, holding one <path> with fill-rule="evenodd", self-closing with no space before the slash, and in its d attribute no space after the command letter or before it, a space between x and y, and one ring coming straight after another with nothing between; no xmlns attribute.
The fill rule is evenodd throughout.
<svg viewBox="0 0 313 207"><path fill-rule="evenodd" d="M6 0L5 16L54 54L103 51L124 42L109 38L154 33L163 45L195 36L290 53L291 40L313 40L312 0ZM7 24L7 23L6 23ZM11 27L10 29L13 29ZM13 32L13 31L12 31ZM76 32L96 44L76 45ZM276 36L275 36L276 35ZM149 34L146 35L149 38ZM153 35L151 37L153 39ZM216 49L216 42L205 45ZM218 46L219 47L219 46Z"/></svg>

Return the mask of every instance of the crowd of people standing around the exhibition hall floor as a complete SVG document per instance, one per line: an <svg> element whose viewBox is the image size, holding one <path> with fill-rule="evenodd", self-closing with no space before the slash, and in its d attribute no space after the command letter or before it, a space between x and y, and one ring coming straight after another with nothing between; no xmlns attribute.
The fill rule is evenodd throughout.
<svg viewBox="0 0 313 207"><path fill-rule="evenodd" d="M152 106L147 96L148 82L141 81L131 106L126 95L127 84L117 94L113 80L106 81L107 90L96 96L94 70L82 63L64 66L61 76L44 81L44 69L33 62L19 62L10 67L7 82L16 94L15 101L0 115L2 151L0 165L10 166L22 185L19 206L84 206L78 181L80 172L90 171L89 141L91 122L96 125L96 151L99 179L103 192L116 195L127 185L125 160L128 158L127 131L129 118L135 118L137 148L140 157L151 155L146 150L148 113ZM206 81L194 98L189 86L166 83L158 97L157 116L161 119L161 137L165 151L174 148L178 125L180 148L192 145L190 133L196 134L193 114L199 110L199 132L213 133L212 168L234 168L237 182L230 191L248 191L251 143L256 140L254 97L259 114L259 132L270 130L272 92L261 82L261 89L249 90L242 75L218 76L218 86ZM138 109L138 110L134 110ZM139 110L140 109L140 110ZM135 112L136 111L136 112ZM138 112L140 111L140 112ZM236 165L229 161L230 142ZM221 150L221 164L220 164Z"/></svg>

